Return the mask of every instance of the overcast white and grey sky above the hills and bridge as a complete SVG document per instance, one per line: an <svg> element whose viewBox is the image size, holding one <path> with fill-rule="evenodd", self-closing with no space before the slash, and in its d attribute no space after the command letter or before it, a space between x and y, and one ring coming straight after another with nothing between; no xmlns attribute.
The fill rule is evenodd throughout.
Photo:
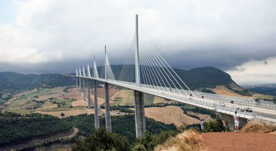
<svg viewBox="0 0 276 151"><path fill-rule="evenodd" d="M0 1L0 71L74 72L104 45L123 64L139 32L175 68L214 66L238 84L276 83L276 1Z"/></svg>

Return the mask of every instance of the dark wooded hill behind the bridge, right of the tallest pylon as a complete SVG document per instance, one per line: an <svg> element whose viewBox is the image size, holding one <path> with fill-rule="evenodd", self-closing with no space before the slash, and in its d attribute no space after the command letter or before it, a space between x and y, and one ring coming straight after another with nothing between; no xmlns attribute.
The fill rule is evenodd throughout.
<svg viewBox="0 0 276 151"><path fill-rule="evenodd" d="M111 65L111 68L115 79L118 79L122 65ZM252 96L246 89L238 86L231 79L230 74L218 68L207 66L192 68L190 70L173 69L191 90L222 95ZM100 74L102 66L97 67L97 70ZM141 83L143 83L143 79ZM184 86L182 87L185 88ZM221 89L227 90L227 93L220 91ZM214 90L217 92L214 92Z"/></svg>

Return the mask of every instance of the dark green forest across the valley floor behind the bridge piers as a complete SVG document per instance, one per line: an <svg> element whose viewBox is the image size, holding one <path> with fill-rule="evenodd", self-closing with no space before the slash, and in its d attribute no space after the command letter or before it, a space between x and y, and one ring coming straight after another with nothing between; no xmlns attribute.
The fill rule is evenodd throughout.
<svg viewBox="0 0 276 151"><path fill-rule="evenodd" d="M111 122L113 132L126 136L130 143L135 140L134 115L112 116ZM149 118L146 118L146 125L147 130L153 134L176 129L174 124L164 124ZM94 132L94 114L81 114L59 119L38 113L26 116L10 112L0 113L0 146L68 131L73 126L79 129L79 135L91 135ZM100 118L100 126L105 127L105 118Z"/></svg>

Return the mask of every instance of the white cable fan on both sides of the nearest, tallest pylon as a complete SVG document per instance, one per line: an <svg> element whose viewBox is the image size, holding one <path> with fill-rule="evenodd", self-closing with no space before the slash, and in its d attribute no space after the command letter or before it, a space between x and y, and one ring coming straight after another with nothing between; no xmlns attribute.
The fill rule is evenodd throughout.
<svg viewBox="0 0 276 151"><path fill-rule="evenodd" d="M135 85L135 34L129 46L119 81ZM159 91L190 95L194 94L165 61L160 53L144 37L139 37L141 86ZM188 90L188 91L185 91Z"/></svg>

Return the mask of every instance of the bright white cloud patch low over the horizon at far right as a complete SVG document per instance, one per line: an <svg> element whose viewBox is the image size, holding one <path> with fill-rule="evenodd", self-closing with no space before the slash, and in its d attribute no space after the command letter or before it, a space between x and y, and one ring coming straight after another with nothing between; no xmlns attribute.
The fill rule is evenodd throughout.
<svg viewBox="0 0 276 151"><path fill-rule="evenodd" d="M266 62L263 63L263 62ZM226 71L238 84L276 84L276 57L249 61Z"/></svg>

